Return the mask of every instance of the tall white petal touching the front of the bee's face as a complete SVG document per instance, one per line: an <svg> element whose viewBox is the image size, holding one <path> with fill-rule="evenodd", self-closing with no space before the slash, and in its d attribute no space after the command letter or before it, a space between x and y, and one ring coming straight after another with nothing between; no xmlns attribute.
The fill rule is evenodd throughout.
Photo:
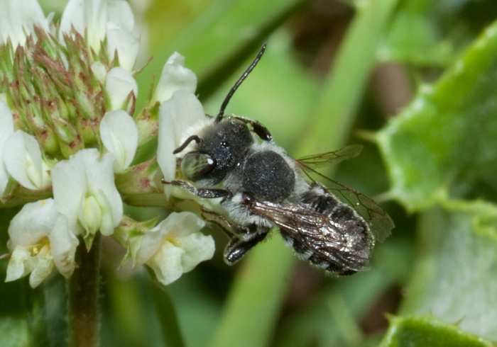
<svg viewBox="0 0 497 347"><path fill-rule="evenodd" d="M160 105L157 161L165 181L175 178L176 157L173 151L180 145L185 132L205 121L202 104L189 91L176 91Z"/></svg>

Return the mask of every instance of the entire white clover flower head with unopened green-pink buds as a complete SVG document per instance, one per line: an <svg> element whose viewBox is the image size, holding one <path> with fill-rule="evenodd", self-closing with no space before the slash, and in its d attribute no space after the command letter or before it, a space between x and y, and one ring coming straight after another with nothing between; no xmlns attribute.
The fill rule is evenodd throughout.
<svg viewBox="0 0 497 347"><path fill-rule="evenodd" d="M137 111L139 39L126 1L70 0L60 25L35 0L0 0L0 8L0 207L23 205L9 227L6 280L29 275L34 288L54 268L69 277L80 239L89 250L98 232L122 241L164 284L211 258L214 241L192 212L139 237L121 225L131 220L124 199L168 203L160 178L174 178L182 132L205 120L185 58L168 59ZM157 136L157 156L134 164Z"/></svg>

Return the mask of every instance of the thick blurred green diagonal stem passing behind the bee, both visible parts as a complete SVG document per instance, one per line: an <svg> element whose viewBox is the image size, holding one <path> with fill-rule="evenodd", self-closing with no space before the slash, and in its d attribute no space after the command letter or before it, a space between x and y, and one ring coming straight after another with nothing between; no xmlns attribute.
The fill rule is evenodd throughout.
<svg viewBox="0 0 497 347"><path fill-rule="evenodd" d="M326 152L344 143L395 4L397 0L370 0L357 8L333 74L324 83L312 129L297 157ZM296 259L281 243L275 237L251 251L234 280L210 346L268 346Z"/></svg>

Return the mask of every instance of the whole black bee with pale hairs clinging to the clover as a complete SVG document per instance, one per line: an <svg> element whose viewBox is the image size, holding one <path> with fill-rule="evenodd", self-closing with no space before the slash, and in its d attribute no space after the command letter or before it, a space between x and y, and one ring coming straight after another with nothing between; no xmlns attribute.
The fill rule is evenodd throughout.
<svg viewBox="0 0 497 347"><path fill-rule="evenodd" d="M312 164L353 157L360 146L296 160L258 121L224 115L231 96L265 48L229 91L219 114L208 116L207 125L173 152L185 180L164 183L200 198L222 198L224 214L209 211L209 215L229 236L224 250L229 265L278 227L285 244L313 265L336 275L361 271L375 242L390 233L393 222L366 195L331 180L333 188L309 179L309 173L316 173Z"/></svg>

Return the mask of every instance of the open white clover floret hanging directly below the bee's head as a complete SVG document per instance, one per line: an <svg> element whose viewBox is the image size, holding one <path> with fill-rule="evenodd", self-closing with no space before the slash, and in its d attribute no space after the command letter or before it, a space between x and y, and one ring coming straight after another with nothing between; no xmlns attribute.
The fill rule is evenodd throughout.
<svg viewBox="0 0 497 347"><path fill-rule="evenodd" d="M134 265L150 266L168 285L214 255L214 239L200 229L205 222L192 212L173 212L131 243Z"/></svg>

